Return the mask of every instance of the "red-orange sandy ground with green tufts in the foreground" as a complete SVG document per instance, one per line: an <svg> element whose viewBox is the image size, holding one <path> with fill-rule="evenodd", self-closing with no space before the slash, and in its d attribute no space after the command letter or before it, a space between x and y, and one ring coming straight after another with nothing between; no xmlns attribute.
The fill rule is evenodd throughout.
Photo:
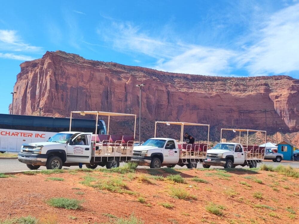
<svg viewBox="0 0 299 224"><path fill-rule="evenodd" d="M126 219L134 213L144 223L298 223L298 179L269 171L176 171L184 177L186 183L153 179L152 183L141 181L140 177L150 177L149 172L156 172L142 169L133 174L73 170L59 174L16 174L15 178L0 178L0 220L30 215L38 219L50 219L52 223L56 223L55 220L57 223L115 223L116 219L104 214ZM162 170L158 172L161 174L155 175L169 175ZM127 190L134 191L135 195L112 193L83 185L80 181L86 176L95 177L98 181L122 178L127 184ZM244 178L248 176L251 179ZM48 177L62 177L64 181L45 181ZM192 181L193 177L208 183ZM254 179L260 179L263 183L257 183ZM170 196L171 188L183 188L197 199L173 198ZM75 194L78 191L84 194ZM262 193L262 199L253 197L257 191ZM46 201L53 197L84 200L83 208L67 210L51 207ZM144 197L146 202L138 202L138 197ZM159 204L161 202L173 204L174 207L164 208ZM209 213L205 207L210 203L225 206L223 215ZM268 205L275 210L257 208L256 205ZM296 213L295 218L290 209ZM72 220L71 217L77 219Z"/></svg>

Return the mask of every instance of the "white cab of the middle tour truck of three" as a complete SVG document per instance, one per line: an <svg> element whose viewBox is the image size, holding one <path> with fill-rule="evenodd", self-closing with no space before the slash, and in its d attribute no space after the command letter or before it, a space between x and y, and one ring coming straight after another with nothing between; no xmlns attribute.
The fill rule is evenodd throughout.
<svg viewBox="0 0 299 224"><path fill-rule="evenodd" d="M160 168L179 162L180 151L175 139L150 138L141 146L135 146L131 161L138 165Z"/></svg>

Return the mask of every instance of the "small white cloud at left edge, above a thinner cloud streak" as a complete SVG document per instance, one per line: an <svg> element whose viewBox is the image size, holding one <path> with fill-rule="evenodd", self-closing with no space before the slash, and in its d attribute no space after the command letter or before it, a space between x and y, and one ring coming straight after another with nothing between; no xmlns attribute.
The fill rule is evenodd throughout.
<svg viewBox="0 0 299 224"><path fill-rule="evenodd" d="M31 46L22 42L16 30L0 30L0 50L41 52L42 47Z"/></svg>

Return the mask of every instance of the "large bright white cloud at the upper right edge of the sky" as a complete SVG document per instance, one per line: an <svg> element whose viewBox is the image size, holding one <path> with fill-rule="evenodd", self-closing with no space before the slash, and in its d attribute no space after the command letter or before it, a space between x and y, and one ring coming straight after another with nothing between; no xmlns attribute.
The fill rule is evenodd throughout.
<svg viewBox="0 0 299 224"><path fill-rule="evenodd" d="M238 58L239 67L254 76L299 70L299 4L274 13L259 35Z"/></svg>

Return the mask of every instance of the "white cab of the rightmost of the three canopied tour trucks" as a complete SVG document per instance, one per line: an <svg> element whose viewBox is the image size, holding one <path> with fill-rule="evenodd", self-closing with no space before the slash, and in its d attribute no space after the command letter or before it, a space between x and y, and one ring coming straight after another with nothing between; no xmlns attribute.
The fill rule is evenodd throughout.
<svg viewBox="0 0 299 224"><path fill-rule="evenodd" d="M244 147L234 142L218 143L207 151L207 157L204 162L203 166L205 168L209 168L211 165L223 166L224 168L234 168L236 165L244 165Z"/></svg>

